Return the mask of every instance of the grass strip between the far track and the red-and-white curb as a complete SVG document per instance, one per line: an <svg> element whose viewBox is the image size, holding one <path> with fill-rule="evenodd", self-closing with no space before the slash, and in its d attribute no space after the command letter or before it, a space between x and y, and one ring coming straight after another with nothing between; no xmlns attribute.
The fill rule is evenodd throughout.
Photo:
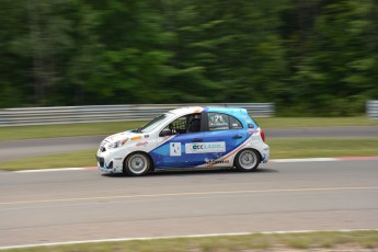
<svg viewBox="0 0 378 252"><path fill-rule="evenodd" d="M378 138L277 138L270 139L272 159L377 156ZM0 170L94 167L96 150L41 156L0 162Z"/></svg>

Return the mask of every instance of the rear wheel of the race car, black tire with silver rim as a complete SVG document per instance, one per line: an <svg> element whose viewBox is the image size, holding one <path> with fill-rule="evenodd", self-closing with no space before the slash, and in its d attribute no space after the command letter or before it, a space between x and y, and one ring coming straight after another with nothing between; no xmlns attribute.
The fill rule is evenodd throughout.
<svg viewBox="0 0 378 252"><path fill-rule="evenodd" d="M244 149L237 154L234 165L237 167L238 171L251 172L259 168L260 162L261 157L256 150Z"/></svg>

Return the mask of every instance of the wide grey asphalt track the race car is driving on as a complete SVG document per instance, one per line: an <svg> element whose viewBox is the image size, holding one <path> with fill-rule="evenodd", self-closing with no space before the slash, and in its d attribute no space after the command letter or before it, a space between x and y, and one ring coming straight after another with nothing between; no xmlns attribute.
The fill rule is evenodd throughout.
<svg viewBox="0 0 378 252"><path fill-rule="evenodd" d="M92 239L378 228L378 161L254 173L0 172L0 247Z"/></svg>

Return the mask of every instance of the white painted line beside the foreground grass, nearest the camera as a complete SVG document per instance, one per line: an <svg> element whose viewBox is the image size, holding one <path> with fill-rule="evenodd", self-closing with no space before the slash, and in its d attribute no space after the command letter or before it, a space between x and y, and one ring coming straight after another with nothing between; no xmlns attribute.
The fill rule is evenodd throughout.
<svg viewBox="0 0 378 252"><path fill-rule="evenodd" d="M141 238L116 238L116 239L100 239L100 240L82 240L82 241L66 241L66 242L49 242L39 244L25 244L25 245L10 245L0 247L0 250L9 249L27 249L34 247L48 247L48 245L71 245L81 243L99 243L99 242L118 242L118 241L140 241L140 240L162 240L162 239L177 239L177 238L206 238L219 236L249 236L254 233L275 234L275 233L308 233L308 232L353 232L353 231L378 231L378 229L340 229L340 230L293 230L293 231L264 231L264 232L231 232L231 233L208 233L208 234L188 234L188 236L172 236L172 237L141 237Z"/></svg>

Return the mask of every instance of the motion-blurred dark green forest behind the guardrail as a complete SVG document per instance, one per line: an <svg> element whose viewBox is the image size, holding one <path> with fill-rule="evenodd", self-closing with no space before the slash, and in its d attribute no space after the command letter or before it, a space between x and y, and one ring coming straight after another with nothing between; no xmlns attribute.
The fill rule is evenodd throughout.
<svg viewBox="0 0 378 252"><path fill-rule="evenodd" d="M375 0L1 0L0 107L378 99Z"/></svg>

